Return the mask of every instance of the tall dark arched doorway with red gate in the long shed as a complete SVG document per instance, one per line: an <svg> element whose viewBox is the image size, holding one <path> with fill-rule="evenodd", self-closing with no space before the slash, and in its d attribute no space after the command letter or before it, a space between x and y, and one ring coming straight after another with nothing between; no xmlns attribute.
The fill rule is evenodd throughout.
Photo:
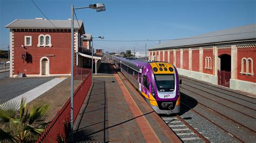
<svg viewBox="0 0 256 143"><path fill-rule="evenodd" d="M231 55L223 54L219 56L218 84L230 87L231 78Z"/></svg>

